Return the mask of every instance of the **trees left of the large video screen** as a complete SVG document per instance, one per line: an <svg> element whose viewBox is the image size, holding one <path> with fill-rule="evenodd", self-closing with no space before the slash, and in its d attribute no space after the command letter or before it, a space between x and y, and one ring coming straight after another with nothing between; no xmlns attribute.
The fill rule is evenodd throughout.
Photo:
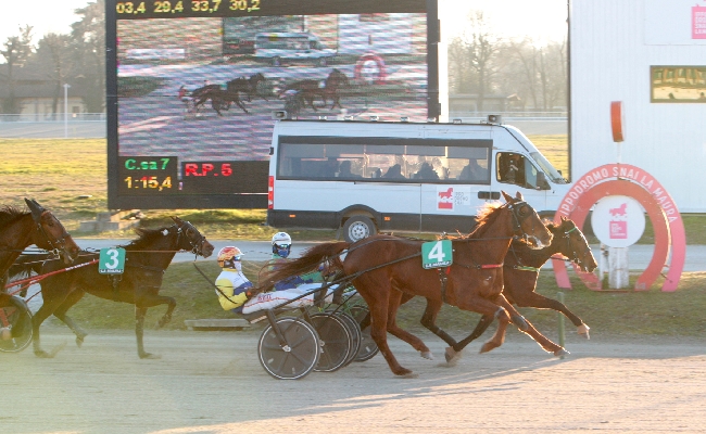
<svg viewBox="0 0 706 434"><path fill-rule="evenodd" d="M33 43L33 27L21 26L0 49L0 113L18 114L22 104L20 85L51 84L53 113L61 112L63 86L67 84L81 95L89 113L105 108L105 3L94 0L75 11L77 21L71 33L47 34Z"/></svg>

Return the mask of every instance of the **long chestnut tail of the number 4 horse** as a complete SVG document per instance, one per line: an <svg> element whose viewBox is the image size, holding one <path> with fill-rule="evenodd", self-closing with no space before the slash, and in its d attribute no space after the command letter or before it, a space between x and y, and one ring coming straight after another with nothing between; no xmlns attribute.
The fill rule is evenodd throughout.
<svg viewBox="0 0 706 434"><path fill-rule="evenodd" d="M294 259L276 264L275 267L266 271L259 281L255 292L270 291L275 283L287 280L292 276L315 271L324 261L330 261L332 267L342 269L340 253L346 250L351 244L344 241L336 243L324 243L307 248L304 254Z"/></svg>

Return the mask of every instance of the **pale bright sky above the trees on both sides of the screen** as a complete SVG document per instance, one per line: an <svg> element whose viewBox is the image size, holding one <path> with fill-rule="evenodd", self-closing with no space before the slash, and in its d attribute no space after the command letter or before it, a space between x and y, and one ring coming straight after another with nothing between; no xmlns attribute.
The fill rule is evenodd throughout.
<svg viewBox="0 0 706 434"><path fill-rule="evenodd" d="M532 35L535 38L560 40L566 35L567 0L439 0L444 38L461 30L472 9L486 11L497 30L508 37ZM0 0L5 3L10 0ZM33 0L11 2L0 13L0 42L17 35L18 26L34 27L35 43L48 33L66 34L78 17L74 10L89 0Z"/></svg>

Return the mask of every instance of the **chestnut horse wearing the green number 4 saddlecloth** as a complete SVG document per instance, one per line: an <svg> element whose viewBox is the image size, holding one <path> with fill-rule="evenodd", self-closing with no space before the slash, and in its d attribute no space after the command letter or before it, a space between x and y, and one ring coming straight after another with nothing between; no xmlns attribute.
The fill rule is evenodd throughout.
<svg viewBox="0 0 706 434"><path fill-rule="evenodd" d="M367 303L371 317L370 335L395 375L412 373L400 366L387 343L387 330L396 327L394 319L403 291L497 318L500 326L490 342L499 346L510 321L520 330L529 328L502 294L503 260L510 240L521 237L533 248L542 248L552 241L551 232L521 194L513 199L502 193L505 204L487 205L477 216L476 229L467 237L452 240L453 265L444 269L424 269L420 266L421 241L375 235L354 244L338 242L314 246L300 258L266 276L262 289L267 290L273 282L303 269L313 269L325 260L333 260L345 277L352 279ZM344 250L348 253L341 261L340 255ZM405 336L406 342L419 341L402 329L394 330L400 336ZM421 341L419 343L424 345Z"/></svg>

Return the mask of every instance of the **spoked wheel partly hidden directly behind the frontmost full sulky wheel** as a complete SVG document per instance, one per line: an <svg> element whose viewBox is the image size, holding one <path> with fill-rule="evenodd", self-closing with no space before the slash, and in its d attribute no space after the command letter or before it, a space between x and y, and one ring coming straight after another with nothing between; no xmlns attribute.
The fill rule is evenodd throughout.
<svg viewBox="0 0 706 434"><path fill-rule="evenodd" d="M341 318L327 312L311 315L312 324L322 342L317 372L333 372L345 365L352 347L351 333Z"/></svg>

